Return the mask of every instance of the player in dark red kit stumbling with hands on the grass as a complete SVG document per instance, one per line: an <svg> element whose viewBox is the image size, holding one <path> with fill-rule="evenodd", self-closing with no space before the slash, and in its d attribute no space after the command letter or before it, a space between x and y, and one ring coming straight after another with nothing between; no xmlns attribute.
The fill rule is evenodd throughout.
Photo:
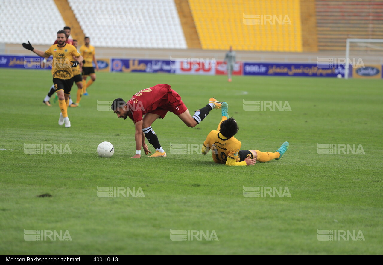
<svg viewBox="0 0 383 265"><path fill-rule="evenodd" d="M136 155L133 158L139 158L141 157L141 145L146 155L151 153L145 144L145 137L155 148L155 153L151 157L166 157L166 153L151 125L158 118L163 119L168 111L177 115L188 127L195 127L206 118L213 108L221 108L221 104L221 102L211 98L208 105L195 111L194 115L191 116L180 95L169 85L162 84L138 91L128 102L121 98L115 99L111 108L118 118L126 120L129 117L133 121L136 127L134 134Z"/></svg>

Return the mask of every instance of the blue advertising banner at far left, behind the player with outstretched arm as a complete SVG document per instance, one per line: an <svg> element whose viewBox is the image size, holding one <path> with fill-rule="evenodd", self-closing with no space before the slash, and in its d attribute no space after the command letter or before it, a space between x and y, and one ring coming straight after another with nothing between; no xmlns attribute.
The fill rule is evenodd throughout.
<svg viewBox="0 0 383 265"><path fill-rule="evenodd" d="M41 62L44 58L39 56L0 55L0 67L3 68L26 68L26 69L51 69L49 62L52 58L46 58L46 66Z"/></svg>

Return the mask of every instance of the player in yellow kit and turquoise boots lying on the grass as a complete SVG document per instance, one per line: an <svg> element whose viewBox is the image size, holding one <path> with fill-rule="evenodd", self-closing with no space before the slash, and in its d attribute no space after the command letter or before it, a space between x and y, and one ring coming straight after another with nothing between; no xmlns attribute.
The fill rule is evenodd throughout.
<svg viewBox="0 0 383 265"><path fill-rule="evenodd" d="M288 142L284 142L277 152L260 152L259 150L240 150L241 142L234 135L238 132L238 126L234 118L229 118L228 103L222 102L222 120L216 131L211 131L202 146L202 154L206 155L209 150L213 154L216 163L228 166L253 165L256 161L268 162L278 160L288 149Z"/></svg>

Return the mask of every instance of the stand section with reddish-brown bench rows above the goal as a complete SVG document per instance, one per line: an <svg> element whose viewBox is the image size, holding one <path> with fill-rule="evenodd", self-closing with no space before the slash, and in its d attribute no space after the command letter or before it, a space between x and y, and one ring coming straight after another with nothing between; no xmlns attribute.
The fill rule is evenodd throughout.
<svg viewBox="0 0 383 265"><path fill-rule="evenodd" d="M382 0L316 0L316 17L319 50L344 50L347 38L383 39Z"/></svg>

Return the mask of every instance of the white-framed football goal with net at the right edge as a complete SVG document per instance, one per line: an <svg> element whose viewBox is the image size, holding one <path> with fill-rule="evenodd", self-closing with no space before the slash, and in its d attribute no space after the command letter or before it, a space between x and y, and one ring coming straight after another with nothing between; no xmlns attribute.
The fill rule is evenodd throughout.
<svg viewBox="0 0 383 265"><path fill-rule="evenodd" d="M347 39L344 78L382 76L383 39Z"/></svg>

